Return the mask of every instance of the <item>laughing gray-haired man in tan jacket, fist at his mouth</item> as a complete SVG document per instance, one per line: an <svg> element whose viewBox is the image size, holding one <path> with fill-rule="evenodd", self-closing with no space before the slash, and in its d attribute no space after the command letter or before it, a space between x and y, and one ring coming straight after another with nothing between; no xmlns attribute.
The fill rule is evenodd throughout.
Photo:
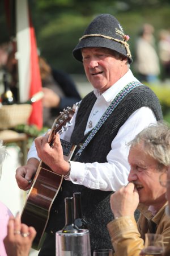
<svg viewBox="0 0 170 256"><path fill-rule="evenodd" d="M170 127L162 122L142 130L129 143L129 183L111 196L115 220L109 222L108 230L115 256L138 256L145 233L162 234L165 245L169 241L166 187L159 182L160 174L167 174L170 164L169 142ZM138 203L141 216L137 224L133 214Z"/></svg>

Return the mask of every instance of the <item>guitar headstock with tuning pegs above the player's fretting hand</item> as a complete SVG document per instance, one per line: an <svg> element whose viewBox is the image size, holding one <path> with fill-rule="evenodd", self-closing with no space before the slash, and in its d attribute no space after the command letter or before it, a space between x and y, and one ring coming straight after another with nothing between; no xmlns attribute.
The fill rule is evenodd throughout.
<svg viewBox="0 0 170 256"><path fill-rule="evenodd" d="M62 134L69 126L72 125L70 121L73 118L76 108L78 108L78 105L74 104L72 108L67 107L66 109L63 109L63 111L60 112L58 117L54 120L48 137L48 143L50 146L53 145L56 133Z"/></svg>

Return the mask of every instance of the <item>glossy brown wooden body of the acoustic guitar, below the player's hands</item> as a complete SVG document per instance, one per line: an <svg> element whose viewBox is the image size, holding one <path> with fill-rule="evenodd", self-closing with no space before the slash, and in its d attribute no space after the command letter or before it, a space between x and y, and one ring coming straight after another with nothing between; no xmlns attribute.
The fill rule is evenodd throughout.
<svg viewBox="0 0 170 256"><path fill-rule="evenodd" d="M49 167L46 169L43 162L40 163L21 216L22 223L36 229L37 234L32 243L32 247L36 250L41 246L40 242L48 223L50 208L62 180L63 176L49 170Z"/></svg>

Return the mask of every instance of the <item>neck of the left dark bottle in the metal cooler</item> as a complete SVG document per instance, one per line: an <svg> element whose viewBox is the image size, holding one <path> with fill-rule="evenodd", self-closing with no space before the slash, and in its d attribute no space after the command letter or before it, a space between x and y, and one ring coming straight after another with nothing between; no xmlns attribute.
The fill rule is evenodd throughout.
<svg viewBox="0 0 170 256"><path fill-rule="evenodd" d="M66 218L66 225L70 225L74 223L73 197L65 198L65 218Z"/></svg>

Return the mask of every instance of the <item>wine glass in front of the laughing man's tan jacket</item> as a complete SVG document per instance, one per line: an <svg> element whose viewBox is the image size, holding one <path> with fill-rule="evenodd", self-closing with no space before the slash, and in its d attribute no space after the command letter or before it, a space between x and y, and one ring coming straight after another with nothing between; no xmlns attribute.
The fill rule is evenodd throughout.
<svg viewBox="0 0 170 256"><path fill-rule="evenodd" d="M145 234L145 255L160 255L164 253L164 242L162 234Z"/></svg>

